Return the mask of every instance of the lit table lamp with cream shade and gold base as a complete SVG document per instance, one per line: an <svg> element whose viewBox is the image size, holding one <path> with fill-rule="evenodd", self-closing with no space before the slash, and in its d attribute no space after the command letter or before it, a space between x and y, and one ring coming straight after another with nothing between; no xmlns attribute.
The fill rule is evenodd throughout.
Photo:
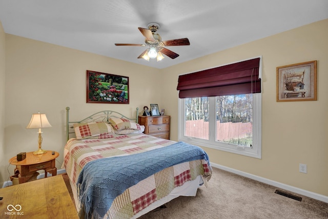
<svg viewBox="0 0 328 219"><path fill-rule="evenodd" d="M41 128L49 128L51 127L46 114L43 113L34 113L32 115L31 121L30 123L27 125L27 129L39 129L39 132L37 132L39 134L38 137L38 143L39 143L39 149L37 151L34 151L33 154L43 154L43 153L47 153L47 151L42 150L41 148L41 144L42 144L42 131Z"/></svg>

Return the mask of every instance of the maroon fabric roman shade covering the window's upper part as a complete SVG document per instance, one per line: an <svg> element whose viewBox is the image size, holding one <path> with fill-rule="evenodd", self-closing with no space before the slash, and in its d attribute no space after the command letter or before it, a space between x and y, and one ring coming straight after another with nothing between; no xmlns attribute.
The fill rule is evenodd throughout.
<svg viewBox="0 0 328 219"><path fill-rule="evenodd" d="M179 98L260 93L260 58L180 75Z"/></svg>

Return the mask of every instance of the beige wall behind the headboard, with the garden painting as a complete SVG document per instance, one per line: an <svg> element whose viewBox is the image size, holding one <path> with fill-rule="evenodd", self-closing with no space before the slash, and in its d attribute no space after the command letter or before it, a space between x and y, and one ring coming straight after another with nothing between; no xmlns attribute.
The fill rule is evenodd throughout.
<svg viewBox="0 0 328 219"><path fill-rule="evenodd" d="M86 70L129 76L130 104L87 104ZM66 142L67 106L73 120L101 110L135 117L136 107L161 104L156 93L158 84L154 83L158 75L158 69L6 34L6 144L2 148L0 182L8 180L10 157L38 147L38 130L26 129L32 113L47 114L52 128L42 130L42 146L59 152L59 169ZM13 168L9 167L10 173Z"/></svg>

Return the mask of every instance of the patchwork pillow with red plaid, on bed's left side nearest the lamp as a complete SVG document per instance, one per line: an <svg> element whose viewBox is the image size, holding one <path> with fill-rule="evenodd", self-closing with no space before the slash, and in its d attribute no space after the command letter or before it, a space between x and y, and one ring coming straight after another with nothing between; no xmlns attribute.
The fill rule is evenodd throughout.
<svg viewBox="0 0 328 219"><path fill-rule="evenodd" d="M87 139L105 134L113 134L111 125L104 122L75 123L73 125L73 128L77 140Z"/></svg>

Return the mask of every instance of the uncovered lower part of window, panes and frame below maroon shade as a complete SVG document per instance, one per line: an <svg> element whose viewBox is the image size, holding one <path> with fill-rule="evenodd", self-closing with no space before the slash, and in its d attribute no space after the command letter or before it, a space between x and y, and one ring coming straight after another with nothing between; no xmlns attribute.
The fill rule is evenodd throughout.
<svg viewBox="0 0 328 219"><path fill-rule="evenodd" d="M179 99L179 141L261 158L261 93Z"/></svg>

